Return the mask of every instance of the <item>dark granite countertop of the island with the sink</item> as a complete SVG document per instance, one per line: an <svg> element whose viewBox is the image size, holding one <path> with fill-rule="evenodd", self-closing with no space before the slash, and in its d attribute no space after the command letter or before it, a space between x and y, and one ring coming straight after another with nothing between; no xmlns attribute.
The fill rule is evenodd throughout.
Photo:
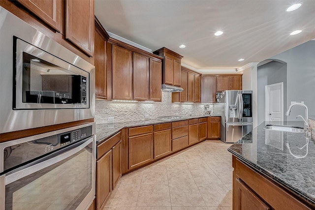
<svg viewBox="0 0 315 210"><path fill-rule="evenodd" d="M304 133L265 130L266 124L275 122L263 122L228 150L253 170L315 205L315 140L305 146ZM284 125L303 127L303 122L285 121Z"/></svg>

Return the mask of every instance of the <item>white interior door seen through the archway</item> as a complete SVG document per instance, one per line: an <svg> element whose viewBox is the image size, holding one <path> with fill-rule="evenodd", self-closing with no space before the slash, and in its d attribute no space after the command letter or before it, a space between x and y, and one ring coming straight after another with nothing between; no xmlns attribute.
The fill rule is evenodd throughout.
<svg viewBox="0 0 315 210"><path fill-rule="evenodd" d="M266 85L266 121L284 120L284 83Z"/></svg>

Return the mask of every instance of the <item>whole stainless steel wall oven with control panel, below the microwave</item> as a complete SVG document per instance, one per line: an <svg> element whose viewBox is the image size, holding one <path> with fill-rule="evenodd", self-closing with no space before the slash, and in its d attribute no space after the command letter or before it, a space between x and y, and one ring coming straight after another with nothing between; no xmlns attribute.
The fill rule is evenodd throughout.
<svg viewBox="0 0 315 210"><path fill-rule="evenodd" d="M95 198L95 123L0 144L0 210L84 210Z"/></svg>

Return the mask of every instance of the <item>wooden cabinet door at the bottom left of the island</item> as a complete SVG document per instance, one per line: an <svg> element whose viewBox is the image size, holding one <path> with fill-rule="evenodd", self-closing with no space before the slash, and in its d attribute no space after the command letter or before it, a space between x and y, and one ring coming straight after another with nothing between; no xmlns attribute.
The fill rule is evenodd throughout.
<svg viewBox="0 0 315 210"><path fill-rule="evenodd" d="M251 189L243 184L239 179L235 180L233 191L235 196L235 210L270 210L270 208L256 196Z"/></svg>

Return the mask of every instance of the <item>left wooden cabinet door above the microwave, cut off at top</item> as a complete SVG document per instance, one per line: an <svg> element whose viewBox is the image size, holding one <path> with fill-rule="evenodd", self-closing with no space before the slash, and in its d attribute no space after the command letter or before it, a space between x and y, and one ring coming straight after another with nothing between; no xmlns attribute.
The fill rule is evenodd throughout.
<svg viewBox="0 0 315 210"><path fill-rule="evenodd" d="M62 32L62 1L61 0L18 0L31 10L37 17L58 32Z"/></svg>

